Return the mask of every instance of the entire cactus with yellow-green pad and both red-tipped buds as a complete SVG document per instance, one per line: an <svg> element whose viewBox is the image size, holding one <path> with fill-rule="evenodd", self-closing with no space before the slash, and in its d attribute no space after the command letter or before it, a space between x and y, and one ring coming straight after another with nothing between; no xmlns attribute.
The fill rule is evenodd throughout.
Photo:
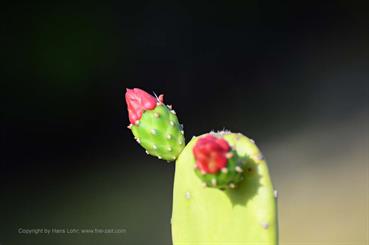
<svg viewBox="0 0 369 245"><path fill-rule="evenodd" d="M127 90L126 101L130 128L139 143L151 155L177 159L174 245L278 243L276 192L253 140L240 133L210 132L193 137L183 148L182 128L163 96L134 89ZM150 133L153 128L155 135ZM164 137L168 132L170 139Z"/></svg>

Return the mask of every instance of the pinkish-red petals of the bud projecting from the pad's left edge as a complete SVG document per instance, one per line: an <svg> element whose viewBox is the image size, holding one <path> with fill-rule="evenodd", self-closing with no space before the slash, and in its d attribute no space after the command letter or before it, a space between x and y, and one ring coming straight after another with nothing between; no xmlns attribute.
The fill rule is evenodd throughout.
<svg viewBox="0 0 369 245"><path fill-rule="evenodd" d="M157 99L139 88L127 89L126 103L128 108L129 121L135 124L140 120L145 110L152 110L156 107Z"/></svg>

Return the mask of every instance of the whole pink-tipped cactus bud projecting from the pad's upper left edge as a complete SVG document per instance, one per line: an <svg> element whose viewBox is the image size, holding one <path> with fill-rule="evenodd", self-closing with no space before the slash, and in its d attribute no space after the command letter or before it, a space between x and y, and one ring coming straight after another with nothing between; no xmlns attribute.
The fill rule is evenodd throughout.
<svg viewBox="0 0 369 245"><path fill-rule="evenodd" d="M184 148L182 127L172 109L164 104L164 96L158 98L134 88L127 89L126 103L129 129L136 141L150 155L173 161Z"/></svg>

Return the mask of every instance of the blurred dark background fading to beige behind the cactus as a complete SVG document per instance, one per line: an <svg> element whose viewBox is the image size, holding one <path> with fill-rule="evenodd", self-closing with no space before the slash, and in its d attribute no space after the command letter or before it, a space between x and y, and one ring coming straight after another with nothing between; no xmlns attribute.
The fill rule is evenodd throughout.
<svg viewBox="0 0 369 245"><path fill-rule="evenodd" d="M0 244L171 244L174 164L123 94L164 93L185 136L255 139L281 244L368 244L365 1L120 1L1 8ZM24 235L19 228L123 228Z"/></svg>

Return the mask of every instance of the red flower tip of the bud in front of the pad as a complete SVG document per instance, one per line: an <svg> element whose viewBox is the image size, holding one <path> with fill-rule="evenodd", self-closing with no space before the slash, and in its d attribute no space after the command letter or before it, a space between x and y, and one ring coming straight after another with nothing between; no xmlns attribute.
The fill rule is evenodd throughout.
<svg viewBox="0 0 369 245"><path fill-rule="evenodd" d="M193 148L197 168L205 173L217 173L226 167L229 150L230 146L224 139L213 135L200 138Z"/></svg>

